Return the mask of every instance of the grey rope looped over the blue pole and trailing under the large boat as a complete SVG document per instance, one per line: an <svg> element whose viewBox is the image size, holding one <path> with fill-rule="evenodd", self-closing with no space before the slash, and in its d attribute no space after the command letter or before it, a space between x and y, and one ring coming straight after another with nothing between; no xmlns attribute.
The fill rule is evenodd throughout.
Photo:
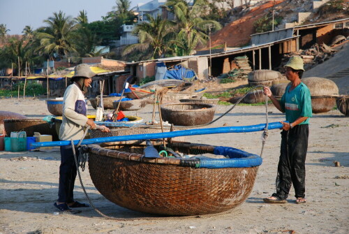
<svg viewBox="0 0 349 234"><path fill-rule="evenodd" d="M249 92L253 91L254 89L257 89L258 87L263 87L262 85L258 85L256 87L254 87L253 89L251 89ZM221 119L221 117L223 117L224 115L227 115L228 112L230 112L232 109L235 108L235 106L237 104L240 103L240 101L242 101L242 99L249 93L247 92L246 94L244 94L244 96L242 96L242 98L240 98L237 103L235 103L235 105L232 106L232 108L230 108L228 111L226 111L223 115L221 115L220 117L214 119L213 121L209 122L208 124L201 124L201 125L196 125L196 126L190 126L190 127L187 127L187 126L180 126L180 127L183 127L183 128L193 128L193 127L198 127L198 126L207 126L209 124L212 124L214 122L216 122L218 119ZM266 101L265 101L265 113L266 113L266 121L267 121L267 124L265 126L265 130L263 131L262 133L262 150L260 152L260 156L262 157L262 153L263 153L263 149L264 149L264 146L265 146L265 142L267 140L267 136L268 136L268 97L266 96ZM132 127L132 126L131 126ZM82 136L81 140L77 143L76 147L80 147L80 144L82 142L82 140L85 138L86 134L87 134L87 131L89 130L90 126L87 127L87 129L84 131L84 136ZM216 217L216 216L219 216L219 215L223 215L223 214L228 214L231 212L231 210L228 210L226 212L221 212L221 213L218 213L218 214L203 214L203 215L189 215L189 216L177 216L177 217L137 217L137 218L118 218L118 217L113 217L113 216L109 216L109 215L106 215L106 214L103 214L103 212L101 212L100 210L98 210L97 207L94 206L94 203L92 203L91 199L89 198L89 195L87 194L87 191L86 189L84 188L84 184L82 182L82 179L81 179L81 175L80 175L80 170L79 170L79 166L82 168L82 171L84 171L84 168L85 168L85 164L86 164L86 161L88 159L88 155L86 154L86 152L83 152L82 151L82 148L80 147L79 150L80 150L80 159L79 159L79 162L77 161L77 156L76 156L76 152L75 152L75 147L74 147L74 142L73 142L73 139L71 140L71 145L72 145L72 148L73 148L73 155L74 155L74 160L75 160L75 166L77 168L77 175L79 177L79 180L80 180L80 184L81 184L81 187L82 187L82 190L84 191L84 194L87 198L87 200L89 201L89 204L91 205L92 208L94 208L94 210L100 214L102 217L106 218L106 219L112 219L112 220L116 220L116 221L134 221L134 220L175 220L175 219L192 219L192 218L205 218L205 217Z"/></svg>

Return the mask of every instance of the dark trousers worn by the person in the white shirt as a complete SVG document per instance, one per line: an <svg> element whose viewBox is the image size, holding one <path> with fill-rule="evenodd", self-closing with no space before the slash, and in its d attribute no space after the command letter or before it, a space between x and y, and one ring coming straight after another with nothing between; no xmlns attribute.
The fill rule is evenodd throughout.
<svg viewBox="0 0 349 234"><path fill-rule="evenodd" d="M79 150L75 147L77 159L79 157ZM73 189L77 169L75 166L75 159L73 148L71 145L61 146L61 166L59 166L59 189L58 202L59 203L73 203Z"/></svg>

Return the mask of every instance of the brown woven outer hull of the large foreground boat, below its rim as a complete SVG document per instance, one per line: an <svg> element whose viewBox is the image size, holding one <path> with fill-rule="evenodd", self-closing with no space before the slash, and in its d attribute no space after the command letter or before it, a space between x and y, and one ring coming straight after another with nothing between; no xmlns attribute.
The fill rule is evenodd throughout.
<svg viewBox="0 0 349 234"><path fill-rule="evenodd" d="M257 170L195 169L89 153L91 179L105 198L151 214L181 216L231 210L251 193Z"/></svg>

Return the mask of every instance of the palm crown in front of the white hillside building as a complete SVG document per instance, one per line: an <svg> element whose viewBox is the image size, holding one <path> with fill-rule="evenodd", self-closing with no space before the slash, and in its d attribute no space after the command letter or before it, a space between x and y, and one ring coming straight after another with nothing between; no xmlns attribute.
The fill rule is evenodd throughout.
<svg viewBox="0 0 349 234"><path fill-rule="evenodd" d="M170 50L168 42L173 36L172 23L168 20L161 20L160 15L155 19L151 15L147 17L149 22L142 22L135 27L134 32L138 34L140 43L126 47L123 56L139 51L141 52L140 58L154 59L164 56Z"/></svg>

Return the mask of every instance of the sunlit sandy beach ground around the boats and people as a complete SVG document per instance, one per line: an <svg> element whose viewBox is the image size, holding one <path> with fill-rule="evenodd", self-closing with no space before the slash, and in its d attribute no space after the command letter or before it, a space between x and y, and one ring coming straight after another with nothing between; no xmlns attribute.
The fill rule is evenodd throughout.
<svg viewBox="0 0 349 234"><path fill-rule="evenodd" d="M50 115L44 99L0 99L1 110L44 117ZM216 117L228 110L218 106ZM285 119L272 105L269 122ZM95 110L89 106L89 114ZM148 121L151 105L138 112ZM253 191L248 199L228 214L186 219L144 220L148 214L126 210L99 193L82 172L84 187L94 205L103 213L136 221L105 219L91 207L79 214L58 214L57 199L60 155L52 152L0 152L0 233L348 233L349 121L338 110L311 118L309 151L306 159L306 199L295 203L291 189L288 203L270 205L262 198L274 192L279 158L280 131L269 131ZM212 127L244 126L265 123L265 106L237 106ZM260 154L261 132L191 136L191 142L232 146ZM340 167L334 166L339 161ZM80 182L75 183L75 199L87 202Z"/></svg>

